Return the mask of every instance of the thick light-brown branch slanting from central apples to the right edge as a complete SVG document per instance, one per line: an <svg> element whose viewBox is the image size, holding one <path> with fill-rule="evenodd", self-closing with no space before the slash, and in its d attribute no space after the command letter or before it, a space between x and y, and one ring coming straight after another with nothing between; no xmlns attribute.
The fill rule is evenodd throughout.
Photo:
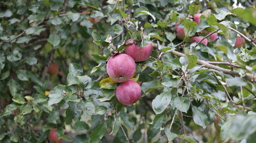
<svg viewBox="0 0 256 143"><path fill-rule="evenodd" d="M152 45L154 47L157 47L156 43L152 43ZM175 50L171 51L171 54L176 55L177 57L185 57L185 54L183 54L182 52L175 51ZM229 69L224 69L222 67L214 66L212 64L207 63L207 61L204 61L204 60L197 60L197 64L200 64L201 66L207 67L209 69L222 71L225 74L230 74L230 75L233 75L233 76L241 76L241 74L237 71L233 71L233 70L229 70ZM251 80L251 82L256 82L256 74L245 73L245 76L249 80Z"/></svg>

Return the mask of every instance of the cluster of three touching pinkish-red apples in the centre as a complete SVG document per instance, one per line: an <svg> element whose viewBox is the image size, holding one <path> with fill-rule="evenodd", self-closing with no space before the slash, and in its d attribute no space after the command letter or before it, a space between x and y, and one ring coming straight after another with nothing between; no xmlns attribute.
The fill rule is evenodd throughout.
<svg viewBox="0 0 256 143"><path fill-rule="evenodd" d="M110 79L120 83L116 88L116 98L124 105L132 105L141 97L141 88L131 77L136 70L135 62L146 61L152 53L152 44L138 47L132 43L125 48L125 54L112 55L107 61L107 74Z"/></svg>

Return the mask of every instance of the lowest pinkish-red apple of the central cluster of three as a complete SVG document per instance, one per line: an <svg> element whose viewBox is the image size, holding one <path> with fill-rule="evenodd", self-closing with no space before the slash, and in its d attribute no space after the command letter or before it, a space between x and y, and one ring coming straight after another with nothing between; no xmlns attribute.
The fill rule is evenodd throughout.
<svg viewBox="0 0 256 143"><path fill-rule="evenodd" d="M124 105L132 105L141 97L141 88L137 82L128 80L116 88L116 98Z"/></svg>

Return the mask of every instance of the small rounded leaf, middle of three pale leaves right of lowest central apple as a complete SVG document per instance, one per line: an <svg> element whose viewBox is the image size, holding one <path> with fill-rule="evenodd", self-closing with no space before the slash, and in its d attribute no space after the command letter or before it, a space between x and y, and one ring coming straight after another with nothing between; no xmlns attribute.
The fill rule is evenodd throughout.
<svg viewBox="0 0 256 143"><path fill-rule="evenodd" d="M173 105L180 111L185 112L188 111L190 103L185 97L175 97L173 100Z"/></svg>

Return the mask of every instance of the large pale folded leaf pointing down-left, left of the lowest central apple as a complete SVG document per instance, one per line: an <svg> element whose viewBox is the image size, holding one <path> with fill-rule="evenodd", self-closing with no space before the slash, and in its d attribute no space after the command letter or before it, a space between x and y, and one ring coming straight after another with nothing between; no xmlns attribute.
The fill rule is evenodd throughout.
<svg viewBox="0 0 256 143"><path fill-rule="evenodd" d="M67 88L67 86L65 85L58 85L55 88L53 88L49 94L48 107L50 107L50 105L60 102L62 98L66 94L68 94L68 92L71 92L71 90Z"/></svg>

